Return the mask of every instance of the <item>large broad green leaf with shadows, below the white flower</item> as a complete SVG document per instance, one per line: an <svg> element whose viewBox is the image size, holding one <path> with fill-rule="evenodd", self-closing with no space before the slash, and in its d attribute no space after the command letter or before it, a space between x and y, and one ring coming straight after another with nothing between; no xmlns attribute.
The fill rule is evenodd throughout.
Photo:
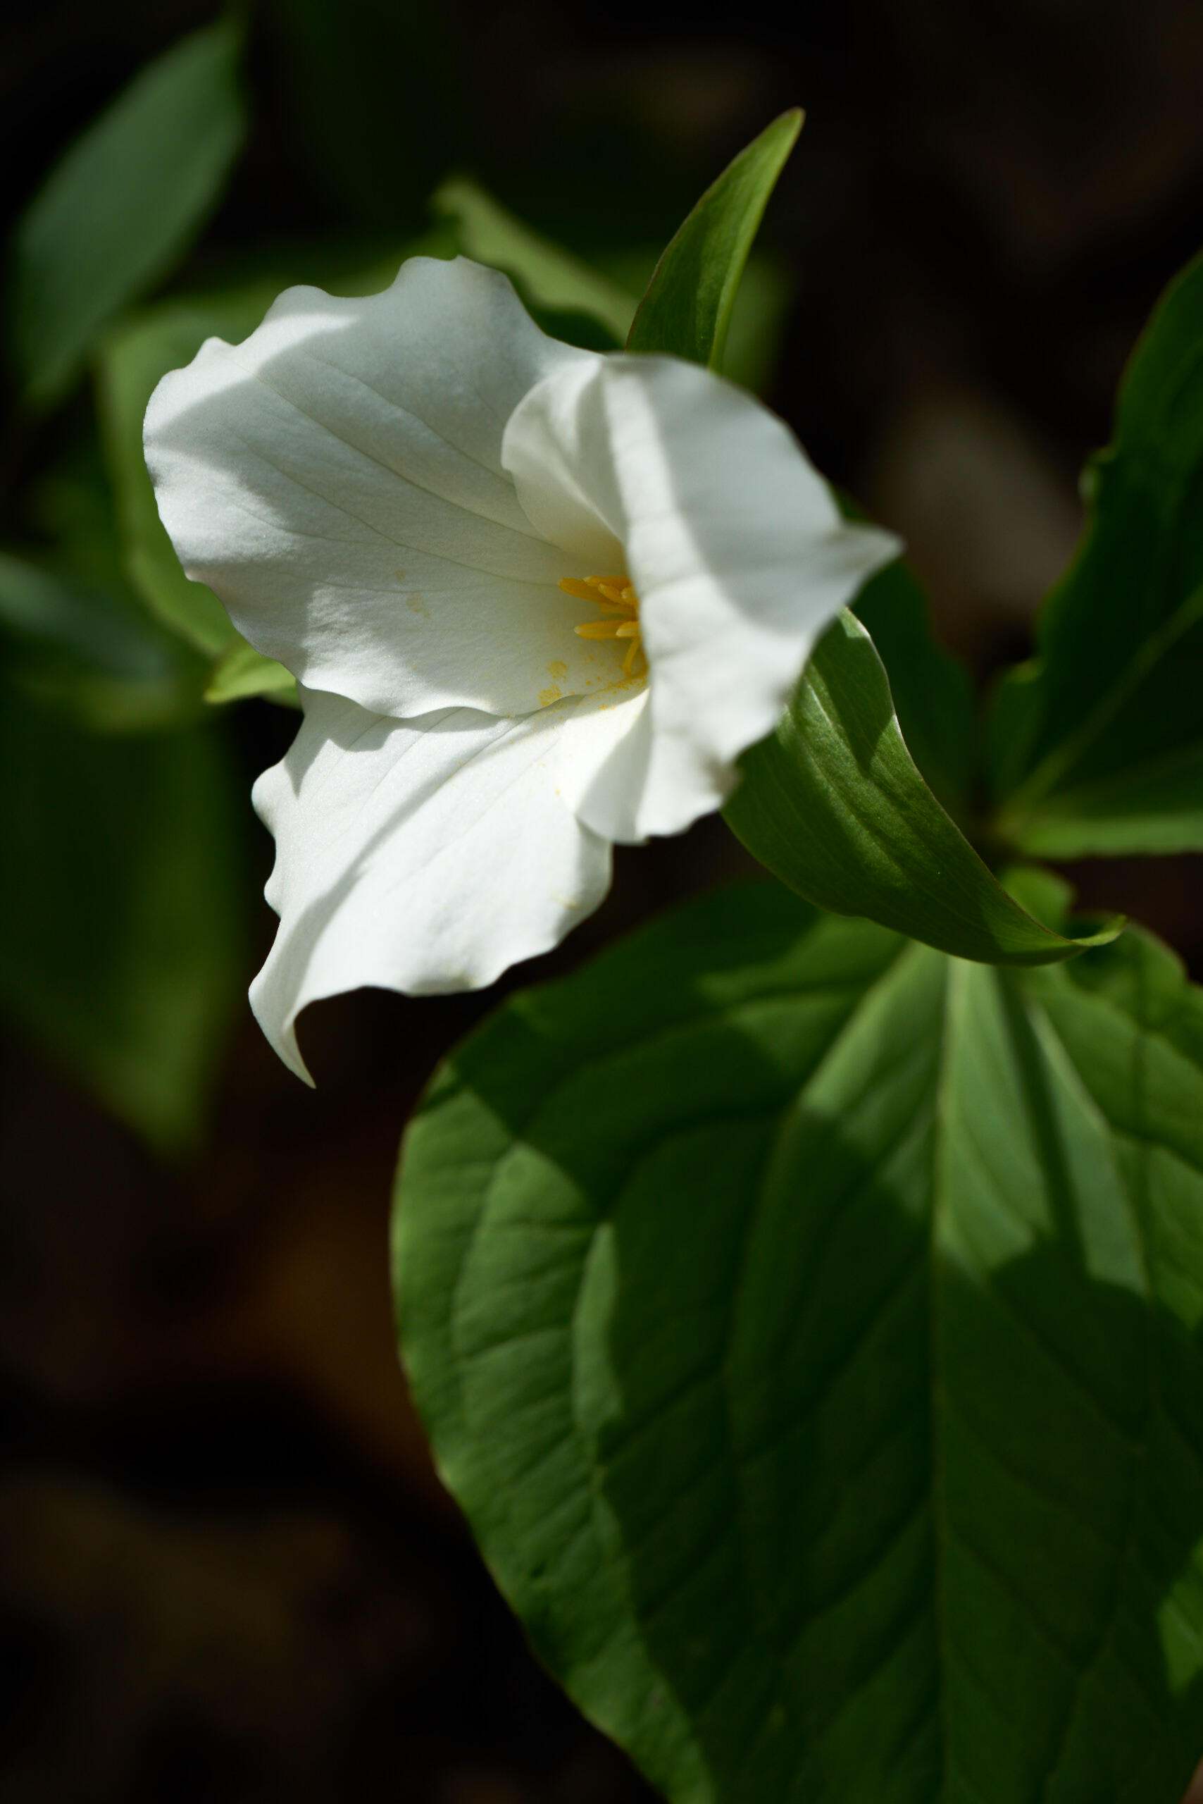
<svg viewBox="0 0 1203 1804"><path fill-rule="evenodd" d="M1203 996L785 891L519 994L409 1128L444 1479L673 1804L1180 1804L1203 1721Z"/></svg>

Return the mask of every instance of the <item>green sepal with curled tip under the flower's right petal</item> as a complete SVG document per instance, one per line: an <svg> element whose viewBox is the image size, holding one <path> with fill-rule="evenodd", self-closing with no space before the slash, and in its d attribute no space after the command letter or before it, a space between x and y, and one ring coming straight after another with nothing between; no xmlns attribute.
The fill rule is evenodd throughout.
<svg viewBox="0 0 1203 1804"><path fill-rule="evenodd" d="M882 660L849 613L739 769L727 823L776 877L837 915L996 965L1071 958L1118 933L1113 922L1068 940L1012 900L916 770Z"/></svg>

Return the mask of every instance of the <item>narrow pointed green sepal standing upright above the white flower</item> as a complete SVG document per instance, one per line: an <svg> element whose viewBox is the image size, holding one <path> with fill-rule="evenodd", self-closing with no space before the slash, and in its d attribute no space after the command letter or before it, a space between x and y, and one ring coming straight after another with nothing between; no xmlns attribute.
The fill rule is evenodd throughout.
<svg viewBox="0 0 1203 1804"><path fill-rule="evenodd" d="M801 130L797 106L781 114L707 188L657 263L628 350L721 364L743 265Z"/></svg>

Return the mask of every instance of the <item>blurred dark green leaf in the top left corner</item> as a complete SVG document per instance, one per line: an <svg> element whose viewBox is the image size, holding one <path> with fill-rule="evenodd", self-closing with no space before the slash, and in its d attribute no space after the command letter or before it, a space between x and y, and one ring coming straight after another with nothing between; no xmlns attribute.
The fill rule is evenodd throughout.
<svg viewBox="0 0 1203 1804"><path fill-rule="evenodd" d="M101 328L159 281L218 200L245 132L240 32L225 22L144 69L79 137L13 245L13 346L27 399L79 373Z"/></svg>

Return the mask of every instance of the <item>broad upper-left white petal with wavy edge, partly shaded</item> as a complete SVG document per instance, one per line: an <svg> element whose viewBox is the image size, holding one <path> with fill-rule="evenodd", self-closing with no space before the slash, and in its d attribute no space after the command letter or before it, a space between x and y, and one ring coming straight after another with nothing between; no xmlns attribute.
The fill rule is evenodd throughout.
<svg viewBox="0 0 1203 1804"><path fill-rule="evenodd" d="M541 377L595 361L464 258L411 258L361 299L289 289L155 390L159 511L188 574L308 687L399 716L581 695L597 673L556 586L574 572L518 505L501 433Z"/></svg>

